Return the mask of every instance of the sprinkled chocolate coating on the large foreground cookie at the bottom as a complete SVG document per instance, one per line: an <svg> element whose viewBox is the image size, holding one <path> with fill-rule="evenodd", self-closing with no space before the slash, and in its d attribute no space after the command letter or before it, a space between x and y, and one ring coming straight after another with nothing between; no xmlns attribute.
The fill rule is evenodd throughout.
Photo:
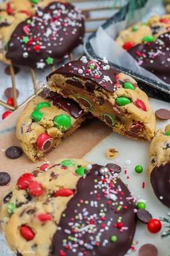
<svg viewBox="0 0 170 256"><path fill-rule="evenodd" d="M91 173L79 179L53 237L50 256L122 256L130 248L136 225L134 203L128 201L130 192L117 174L100 176L101 167L93 165Z"/></svg>

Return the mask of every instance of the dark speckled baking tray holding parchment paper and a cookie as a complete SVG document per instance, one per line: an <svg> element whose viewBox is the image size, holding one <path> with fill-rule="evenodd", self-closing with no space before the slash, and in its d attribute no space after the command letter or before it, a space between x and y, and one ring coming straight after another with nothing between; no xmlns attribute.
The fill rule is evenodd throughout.
<svg viewBox="0 0 170 256"><path fill-rule="evenodd" d="M137 0L138 1L138 0ZM147 1L146 1L147 2ZM146 4L143 3L143 6ZM139 5L138 8L141 6ZM125 20L126 15L130 9L130 5L127 4L125 7L120 9L120 12L117 12L113 17L111 17L107 22L104 22L102 25L103 29L106 29L110 25ZM91 47L90 40L94 38L96 33L92 33L87 38L86 42L84 43L84 51L86 54L94 59L99 59L99 56L94 53L93 48ZM142 88L146 93L152 98L158 98L163 101L170 102L170 85L165 85L164 83L157 82L156 80L152 80L148 77L144 77L143 75L137 74L135 72L131 72L129 69L125 69L124 67L118 66L117 64L109 61L109 64L117 69L118 71L125 72L126 74L130 74L135 80L138 81L140 88ZM170 72L170 71L169 71Z"/></svg>

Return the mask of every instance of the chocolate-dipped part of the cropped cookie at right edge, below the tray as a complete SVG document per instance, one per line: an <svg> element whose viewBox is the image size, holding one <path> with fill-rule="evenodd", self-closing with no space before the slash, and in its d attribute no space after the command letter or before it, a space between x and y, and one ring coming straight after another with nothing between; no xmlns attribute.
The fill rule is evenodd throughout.
<svg viewBox="0 0 170 256"><path fill-rule="evenodd" d="M150 179L158 200L170 208L170 163L154 167Z"/></svg>

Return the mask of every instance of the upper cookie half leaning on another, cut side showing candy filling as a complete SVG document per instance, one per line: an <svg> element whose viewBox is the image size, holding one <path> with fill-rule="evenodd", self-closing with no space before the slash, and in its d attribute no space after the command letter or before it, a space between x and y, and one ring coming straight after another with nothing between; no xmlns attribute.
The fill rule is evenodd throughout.
<svg viewBox="0 0 170 256"><path fill-rule="evenodd" d="M83 56L63 65L47 79L50 90L73 98L113 131L139 140L153 137L155 116L148 96L132 77L109 67L107 60Z"/></svg>

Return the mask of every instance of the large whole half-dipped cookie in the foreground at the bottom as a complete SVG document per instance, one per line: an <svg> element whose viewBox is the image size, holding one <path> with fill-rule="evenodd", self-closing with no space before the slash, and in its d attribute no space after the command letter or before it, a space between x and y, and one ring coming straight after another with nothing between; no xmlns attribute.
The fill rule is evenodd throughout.
<svg viewBox="0 0 170 256"><path fill-rule="evenodd" d="M67 159L19 177L4 197L1 226L17 255L122 256L133 242L134 209L113 170Z"/></svg>

